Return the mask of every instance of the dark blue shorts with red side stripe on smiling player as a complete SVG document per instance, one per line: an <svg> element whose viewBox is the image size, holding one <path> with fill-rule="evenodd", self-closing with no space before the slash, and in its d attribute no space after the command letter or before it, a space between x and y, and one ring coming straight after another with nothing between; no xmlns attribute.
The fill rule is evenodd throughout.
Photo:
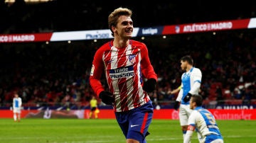
<svg viewBox="0 0 256 143"><path fill-rule="evenodd" d="M146 142L145 137L149 135L148 129L153 117L152 102L146 103L138 108L126 112L117 112L115 116L126 139L136 139Z"/></svg>

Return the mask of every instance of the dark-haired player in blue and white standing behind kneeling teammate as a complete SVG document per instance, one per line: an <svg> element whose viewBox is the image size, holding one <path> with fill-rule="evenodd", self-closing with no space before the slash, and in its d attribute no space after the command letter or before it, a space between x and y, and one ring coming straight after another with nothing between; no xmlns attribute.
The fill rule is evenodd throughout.
<svg viewBox="0 0 256 143"><path fill-rule="evenodd" d="M184 137L188 128L188 117L192 112L188 101L192 94L198 94L199 92L202 72L200 69L193 67L193 59L190 55L181 57L181 69L185 72L181 76L181 90L176 98L174 109L178 110L179 108L179 121Z"/></svg>

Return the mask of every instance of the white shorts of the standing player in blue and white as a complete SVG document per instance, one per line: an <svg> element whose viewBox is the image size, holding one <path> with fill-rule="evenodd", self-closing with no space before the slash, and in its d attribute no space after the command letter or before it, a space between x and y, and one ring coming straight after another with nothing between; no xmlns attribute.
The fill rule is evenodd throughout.
<svg viewBox="0 0 256 143"><path fill-rule="evenodd" d="M190 109L189 104L188 105L183 105L183 104L180 105L178 115L179 115L179 120L180 120L181 126L188 125L188 117L192 111L193 110Z"/></svg>

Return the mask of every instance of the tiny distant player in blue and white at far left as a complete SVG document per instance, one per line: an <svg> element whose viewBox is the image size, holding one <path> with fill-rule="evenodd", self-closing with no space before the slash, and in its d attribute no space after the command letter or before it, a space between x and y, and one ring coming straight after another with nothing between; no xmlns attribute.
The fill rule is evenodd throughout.
<svg viewBox="0 0 256 143"><path fill-rule="evenodd" d="M21 105L22 105L22 100L18 96L18 93L14 93L14 98L13 98L13 112L14 112L14 122L18 120L18 122L21 121Z"/></svg>

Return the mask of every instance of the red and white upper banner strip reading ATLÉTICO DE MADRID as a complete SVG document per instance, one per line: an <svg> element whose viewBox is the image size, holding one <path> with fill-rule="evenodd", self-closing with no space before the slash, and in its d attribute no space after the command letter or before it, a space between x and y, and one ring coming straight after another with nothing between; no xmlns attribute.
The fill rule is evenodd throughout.
<svg viewBox="0 0 256 143"><path fill-rule="evenodd" d="M182 33L200 33L218 30L235 30L256 28L256 18L227 21L210 21L205 23L188 23L181 25L161 25L157 27L134 28L132 37L146 35L171 35ZM140 31L140 32L139 32ZM22 33L0 35L1 42L46 42L68 40L95 40L112 38L109 29L79 30L54 33Z"/></svg>

